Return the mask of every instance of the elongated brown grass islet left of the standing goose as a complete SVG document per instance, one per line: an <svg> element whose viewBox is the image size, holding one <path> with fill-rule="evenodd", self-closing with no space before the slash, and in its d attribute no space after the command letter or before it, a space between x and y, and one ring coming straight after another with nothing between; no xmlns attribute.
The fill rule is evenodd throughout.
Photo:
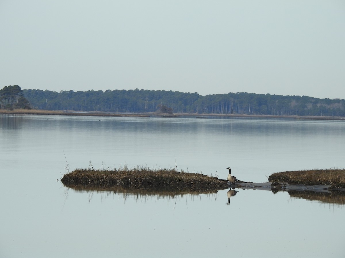
<svg viewBox="0 0 345 258"><path fill-rule="evenodd" d="M122 186L122 187L188 187L188 189L226 189L228 184L216 177L184 173L173 169L76 169L63 175L64 185Z"/></svg>

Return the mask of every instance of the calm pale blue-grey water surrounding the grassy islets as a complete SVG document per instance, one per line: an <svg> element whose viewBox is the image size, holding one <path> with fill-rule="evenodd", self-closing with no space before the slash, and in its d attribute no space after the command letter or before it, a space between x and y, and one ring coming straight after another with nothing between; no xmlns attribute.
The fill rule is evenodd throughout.
<svg viewBox="0 0 345 258"><path fill-rule="evenodd" d="M344 257L344 199L69 189L76 168L267 182L345 167L345 122L0 115L0 257ZM333 200L333 201L332 201Z"/></svg>

